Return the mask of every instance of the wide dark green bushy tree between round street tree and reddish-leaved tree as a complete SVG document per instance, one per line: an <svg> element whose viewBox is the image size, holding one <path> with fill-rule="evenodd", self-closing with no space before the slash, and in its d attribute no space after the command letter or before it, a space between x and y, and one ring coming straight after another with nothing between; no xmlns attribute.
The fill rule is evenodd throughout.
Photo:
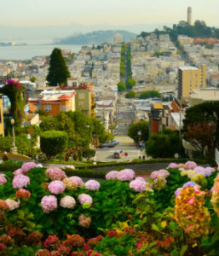
<svg viewBox="0 0 219 256"><path fill-rule="evenodd" d="M147 155L153 158L174 157L176 153L182 155L183 148L178 131L166 129L159 134L154 133L145 144Z"/></svg>

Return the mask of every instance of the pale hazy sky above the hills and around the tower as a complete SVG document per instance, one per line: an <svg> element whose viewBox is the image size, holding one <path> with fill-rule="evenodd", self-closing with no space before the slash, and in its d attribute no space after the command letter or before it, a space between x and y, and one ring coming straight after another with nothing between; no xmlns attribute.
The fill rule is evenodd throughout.
<svg viewBox="0 0 219 256"><path fill-rule="evenodd" d="M0 25L131 25L205 20L219 25L218 0L0 0Z"/></svg>

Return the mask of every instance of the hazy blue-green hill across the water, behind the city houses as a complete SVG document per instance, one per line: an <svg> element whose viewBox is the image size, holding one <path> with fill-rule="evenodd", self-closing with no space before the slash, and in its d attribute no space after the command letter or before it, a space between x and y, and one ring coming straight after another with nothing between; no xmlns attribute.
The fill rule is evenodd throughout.
<svg viewBox="0 0 219 256"><path fill-rule="evenodd" d="M113 37L117 33L122 35L124 41L130 41L130 39L136 37L135 33L124 30L100 30L62 38L58 44L101 44L105 42L112 43Z"/></svg>

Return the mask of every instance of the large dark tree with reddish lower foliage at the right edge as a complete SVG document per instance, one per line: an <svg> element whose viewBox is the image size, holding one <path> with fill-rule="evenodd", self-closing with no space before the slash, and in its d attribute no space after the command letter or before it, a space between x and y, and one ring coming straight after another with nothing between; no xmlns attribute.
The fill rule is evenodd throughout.
<svg viewBox="0 0 219 256"><path fill-rule="evenodd" d="M206 154L214 159L214 148L219 146L219 102L204 102L188 108L182 133L194 148L199 148L202 154L205 148ZM204 137L199 136L201 134Z"/></svg>

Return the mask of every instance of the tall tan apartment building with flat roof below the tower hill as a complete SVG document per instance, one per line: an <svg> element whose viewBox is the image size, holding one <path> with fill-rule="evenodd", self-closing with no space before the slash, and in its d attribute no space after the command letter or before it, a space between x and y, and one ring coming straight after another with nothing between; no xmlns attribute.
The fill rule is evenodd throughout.
<svg viewBox="0 0 219 256"><path fill-rule="evenodd" d="M187 99L193 89L206 87L206 65L178 68L178 99Z"/></svg>

